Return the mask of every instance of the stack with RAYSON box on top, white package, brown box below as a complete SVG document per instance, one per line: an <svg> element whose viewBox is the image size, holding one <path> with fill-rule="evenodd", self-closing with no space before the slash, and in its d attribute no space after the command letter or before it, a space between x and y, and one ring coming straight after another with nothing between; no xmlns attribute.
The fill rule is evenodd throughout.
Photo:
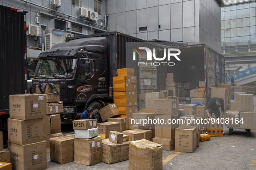
<svg viewBox="0 0 256 170"><path fill-rule="evenodd" d="M75 120L73 129L75 129L74 161L87 166L100 163L102 145L101 136L98 136L97 119Z"/></svg>

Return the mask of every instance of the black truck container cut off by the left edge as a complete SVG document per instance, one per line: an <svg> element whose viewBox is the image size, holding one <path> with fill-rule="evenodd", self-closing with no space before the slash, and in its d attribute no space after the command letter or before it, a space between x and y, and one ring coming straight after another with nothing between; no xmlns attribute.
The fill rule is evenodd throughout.
<svg viewBox="0 0 256 170"><path fill-rule="evenodd" d="M26 12L0 6L0 25L0 131L6 143L9 95L25 94L27 89Z"/></svg>

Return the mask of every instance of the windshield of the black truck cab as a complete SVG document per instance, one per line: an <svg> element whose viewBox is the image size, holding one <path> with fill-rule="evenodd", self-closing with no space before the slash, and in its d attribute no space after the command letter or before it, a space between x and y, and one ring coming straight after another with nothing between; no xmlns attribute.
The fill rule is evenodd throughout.
<svg viewBox="0 0 256 170"><path fill-rule="evenodd" d="M71 79L75 74L76 61L76 58L40 59L35 78Z"/></svg>

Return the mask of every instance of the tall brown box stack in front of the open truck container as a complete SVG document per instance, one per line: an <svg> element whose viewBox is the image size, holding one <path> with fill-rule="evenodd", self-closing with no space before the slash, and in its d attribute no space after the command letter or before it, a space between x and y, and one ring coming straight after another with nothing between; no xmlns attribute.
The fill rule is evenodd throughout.
<svg viewBox="0 0 256 170"><path fill-rule="evenodd" d="M164 150L171 151L175 148L175 129L178 128L178 123L168 123L168 120L178 119L178 101L155 100L154 112L155 119L164 120L164 124L155 124L153 142L163 144Z"/></svg>

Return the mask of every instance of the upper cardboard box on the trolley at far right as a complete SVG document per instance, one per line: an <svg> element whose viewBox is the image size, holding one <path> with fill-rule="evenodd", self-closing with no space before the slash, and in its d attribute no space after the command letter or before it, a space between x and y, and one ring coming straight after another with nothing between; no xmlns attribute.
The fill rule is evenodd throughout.
<svg viewBox="0 0 256 170"><path fill-rule="evenodd" d="M253 94L239 94L238 101L240 112L254 112Z"/></svg>

